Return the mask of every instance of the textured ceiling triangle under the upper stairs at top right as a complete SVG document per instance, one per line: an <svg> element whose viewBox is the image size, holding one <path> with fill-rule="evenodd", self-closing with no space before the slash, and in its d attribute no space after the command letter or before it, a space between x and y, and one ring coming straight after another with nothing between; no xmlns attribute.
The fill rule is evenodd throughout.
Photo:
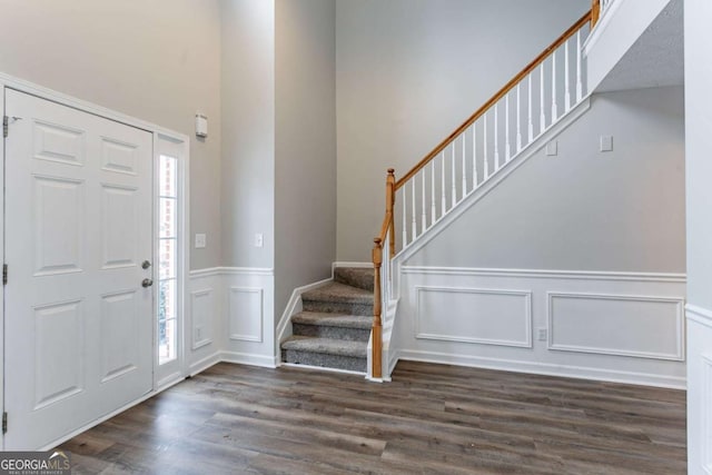
<svg viewBox="0 0 712 475"><path fill-rule="evenodd" d="M684 83L683 0L671 0L596 91Z"/></svg>

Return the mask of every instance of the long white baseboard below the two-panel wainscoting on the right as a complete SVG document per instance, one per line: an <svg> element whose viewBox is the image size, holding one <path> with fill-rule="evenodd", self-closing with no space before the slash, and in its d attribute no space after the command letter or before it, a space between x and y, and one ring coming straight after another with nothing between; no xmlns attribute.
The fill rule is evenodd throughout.
<svg viewBox="0 0 712 475"><path fill-rule="evenodd" d="M496 369L502 372L526 373L533 375L558 376L576 379L593 379L610 383L624 383L639 386L655 386L670 389L686 388L685 378L682 377L660 376L646 373L619 372L612 369L599 369L558 364L553 365L546 363L510 360L502 358L485 358L471 355L402 350L398 359L435 363L442 365L457 365L484 369Z"/></svg>

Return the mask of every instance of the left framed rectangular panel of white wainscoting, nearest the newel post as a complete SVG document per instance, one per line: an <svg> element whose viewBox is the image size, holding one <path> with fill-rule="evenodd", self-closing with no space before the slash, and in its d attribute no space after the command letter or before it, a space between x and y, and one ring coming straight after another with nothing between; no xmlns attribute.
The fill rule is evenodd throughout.
<svg viewBox="0 0 712 475"><path fill-rule="evenodd" d="M416 286L415 337L532 346L532 293Z"/></svg>

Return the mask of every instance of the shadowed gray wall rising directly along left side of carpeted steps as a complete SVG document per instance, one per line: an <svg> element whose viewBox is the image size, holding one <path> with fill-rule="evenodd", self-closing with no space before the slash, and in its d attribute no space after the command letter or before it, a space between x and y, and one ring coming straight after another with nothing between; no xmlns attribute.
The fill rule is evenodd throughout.
<svg viewBox="0 0 712 475"><path fill-rule="evenodd" d="M276 2L275 311L336 257L334 0Z"/></svg>

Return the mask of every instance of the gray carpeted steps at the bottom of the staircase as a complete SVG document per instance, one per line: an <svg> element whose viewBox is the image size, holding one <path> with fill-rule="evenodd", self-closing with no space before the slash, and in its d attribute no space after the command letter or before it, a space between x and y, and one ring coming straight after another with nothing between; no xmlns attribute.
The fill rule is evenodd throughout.
<svg viewBox="0 0 712 475"><path fill-rule="evenodd" d="M301 294L293 336L281 343L288 364L366 373L374 314L374 270L337 267L334 281Z"/></svg>

